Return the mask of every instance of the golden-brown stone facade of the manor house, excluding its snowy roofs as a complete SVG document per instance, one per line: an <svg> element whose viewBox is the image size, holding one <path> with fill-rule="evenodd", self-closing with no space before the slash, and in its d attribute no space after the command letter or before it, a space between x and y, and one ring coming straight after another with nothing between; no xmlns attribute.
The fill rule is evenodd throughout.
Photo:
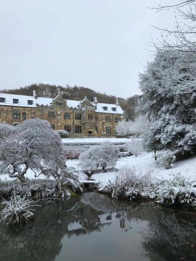
<svg viewBox="0 0 196 261"><path fill-rule="evenodd" d="M36 99L36 96L33 97ZM97 112L96 99L92 103L85 97L74 108L68 106L67 100L64 100L60 94L51 101L49 105L36 104L36 107L17 106L17 104L10 106L6 103L0 103L0 122L14 125L23 120L38 117L48 120L55 130L65 129L70 133L77 133L79 137L85 135L101 137L103 135L113 136L118 120L123 119L122 112L119 114L107 111Z"/></svg>

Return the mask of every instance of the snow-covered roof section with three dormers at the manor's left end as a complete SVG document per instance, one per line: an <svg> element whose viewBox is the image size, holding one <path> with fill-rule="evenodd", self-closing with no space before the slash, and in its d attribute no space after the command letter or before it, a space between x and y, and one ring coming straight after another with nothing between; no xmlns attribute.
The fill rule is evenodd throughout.
<svg viewBox="0 0 196 261"><path fill-rule="evenodd" d="M37 99L33 98L33 96L27 95L18 95L18 94L8 94L8 93L0 93L0 98L5 98L5 102L1 102L0 105L9 105L9 106L19 106L19 107L30 107L36 108L36 104L39 105L48 105L50 106L52 103L51 98L43 98L37 97ZM18 103L13 103L13 99L17 99ZM32 100L33 104L29 105L28 100Z"/></svg>

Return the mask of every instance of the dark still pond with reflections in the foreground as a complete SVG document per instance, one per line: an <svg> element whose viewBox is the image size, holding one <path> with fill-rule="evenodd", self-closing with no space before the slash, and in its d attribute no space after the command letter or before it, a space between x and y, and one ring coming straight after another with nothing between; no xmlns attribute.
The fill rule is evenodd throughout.
<svg viewBox="0 0 196 261"><path fill-rule="evenodd" d="M21 229L0 224L0 260L196 260L192 214L96 192L41 206Z"/></svg>

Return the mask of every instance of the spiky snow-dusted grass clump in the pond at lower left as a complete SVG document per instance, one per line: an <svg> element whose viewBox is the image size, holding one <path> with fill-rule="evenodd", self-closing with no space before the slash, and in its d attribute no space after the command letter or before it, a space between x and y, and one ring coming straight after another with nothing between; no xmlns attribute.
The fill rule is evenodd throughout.
<svg viewBox="0 0 196 261"><path fill-rule="evenodd" d="M29 196L12 196L7 206L1 211L1 221L7 226L29 223L33 216L33 206L38 206Z"/></svg>

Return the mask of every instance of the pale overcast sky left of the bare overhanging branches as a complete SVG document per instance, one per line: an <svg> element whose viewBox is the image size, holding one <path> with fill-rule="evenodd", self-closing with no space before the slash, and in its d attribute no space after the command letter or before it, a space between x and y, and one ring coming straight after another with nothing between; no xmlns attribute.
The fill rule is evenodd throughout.
<svg viewBox="0 0 196 261"><path fill-rule="evenodd" d="M149 59L151 37L160 38L151 25L174 25L173 10L155 13L147 8L152 4L154 0L1 0L0 90L42 82L123 98L140 94L140 63Z"/></svg>

